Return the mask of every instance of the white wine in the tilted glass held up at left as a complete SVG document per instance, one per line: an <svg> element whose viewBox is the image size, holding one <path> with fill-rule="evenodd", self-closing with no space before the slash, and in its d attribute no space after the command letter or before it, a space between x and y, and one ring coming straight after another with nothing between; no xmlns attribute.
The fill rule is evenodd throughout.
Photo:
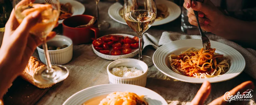
<svg viewBox="0 0 256 105"><path fill-rule="evenodd" d="M15 16L18 22L21 23L27 15L34 11L39 11L41 18L37 24L30 29L30 33L39 38L46 38L58 21L58 10L55 10L51 4L28 4L18 6L15 9Z"/></svg>

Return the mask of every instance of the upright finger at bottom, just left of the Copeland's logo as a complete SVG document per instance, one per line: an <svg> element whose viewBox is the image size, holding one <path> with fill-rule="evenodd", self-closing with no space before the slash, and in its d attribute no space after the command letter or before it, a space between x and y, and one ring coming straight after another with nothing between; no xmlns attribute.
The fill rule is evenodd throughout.
<svg viewBox="0 0 256 105"><path fill-rule="evenodd" d="M210 95L211 84L208 81L204 81L201 88L195 95L195 98L191 101L191 105L203 105L206 98Z"/></svg>

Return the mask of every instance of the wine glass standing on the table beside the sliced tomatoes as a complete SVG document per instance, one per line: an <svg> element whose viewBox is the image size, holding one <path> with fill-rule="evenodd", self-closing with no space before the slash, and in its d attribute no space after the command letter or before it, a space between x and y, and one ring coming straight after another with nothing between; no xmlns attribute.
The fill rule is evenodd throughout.
<svg viewBox="0 0 256 105"><path fill-rule="evenodd" d="M155 0L125 0L123 15L128 26L139 36L139 56L135 56L135 58L144 61L148 67L151 67L153 65L152 58L142 56L142 35L155 21Z"/></svg>

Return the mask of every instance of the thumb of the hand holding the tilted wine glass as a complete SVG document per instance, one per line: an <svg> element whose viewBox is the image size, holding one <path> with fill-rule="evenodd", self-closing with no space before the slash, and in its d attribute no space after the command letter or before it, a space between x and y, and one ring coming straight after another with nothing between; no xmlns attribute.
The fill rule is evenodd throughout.
<svg viewBox="0 0 256 105"><path fill-rule="evenodd" d="M30 29L36 25L37 21L41 17L39 11L35 11L27 15L21 22L20 26L15 30L16 37L25 37L24 35L28 35Z"/></svg>

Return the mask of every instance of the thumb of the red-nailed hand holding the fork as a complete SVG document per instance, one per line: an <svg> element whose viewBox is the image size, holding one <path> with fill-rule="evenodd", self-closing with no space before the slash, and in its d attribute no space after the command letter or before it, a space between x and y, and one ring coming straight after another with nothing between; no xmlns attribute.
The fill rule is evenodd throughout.
<svg viewBox="0 0 256 105"><path fill-rule="evenodd" d="M209 13L212 13L213 11L213 7L209 4L204 4L202 2L198 2L198 1L192 1L192 6L191 8L193 10L196 10L196 11L201 11L203 12L205 15L209 14Z"/></svg>

